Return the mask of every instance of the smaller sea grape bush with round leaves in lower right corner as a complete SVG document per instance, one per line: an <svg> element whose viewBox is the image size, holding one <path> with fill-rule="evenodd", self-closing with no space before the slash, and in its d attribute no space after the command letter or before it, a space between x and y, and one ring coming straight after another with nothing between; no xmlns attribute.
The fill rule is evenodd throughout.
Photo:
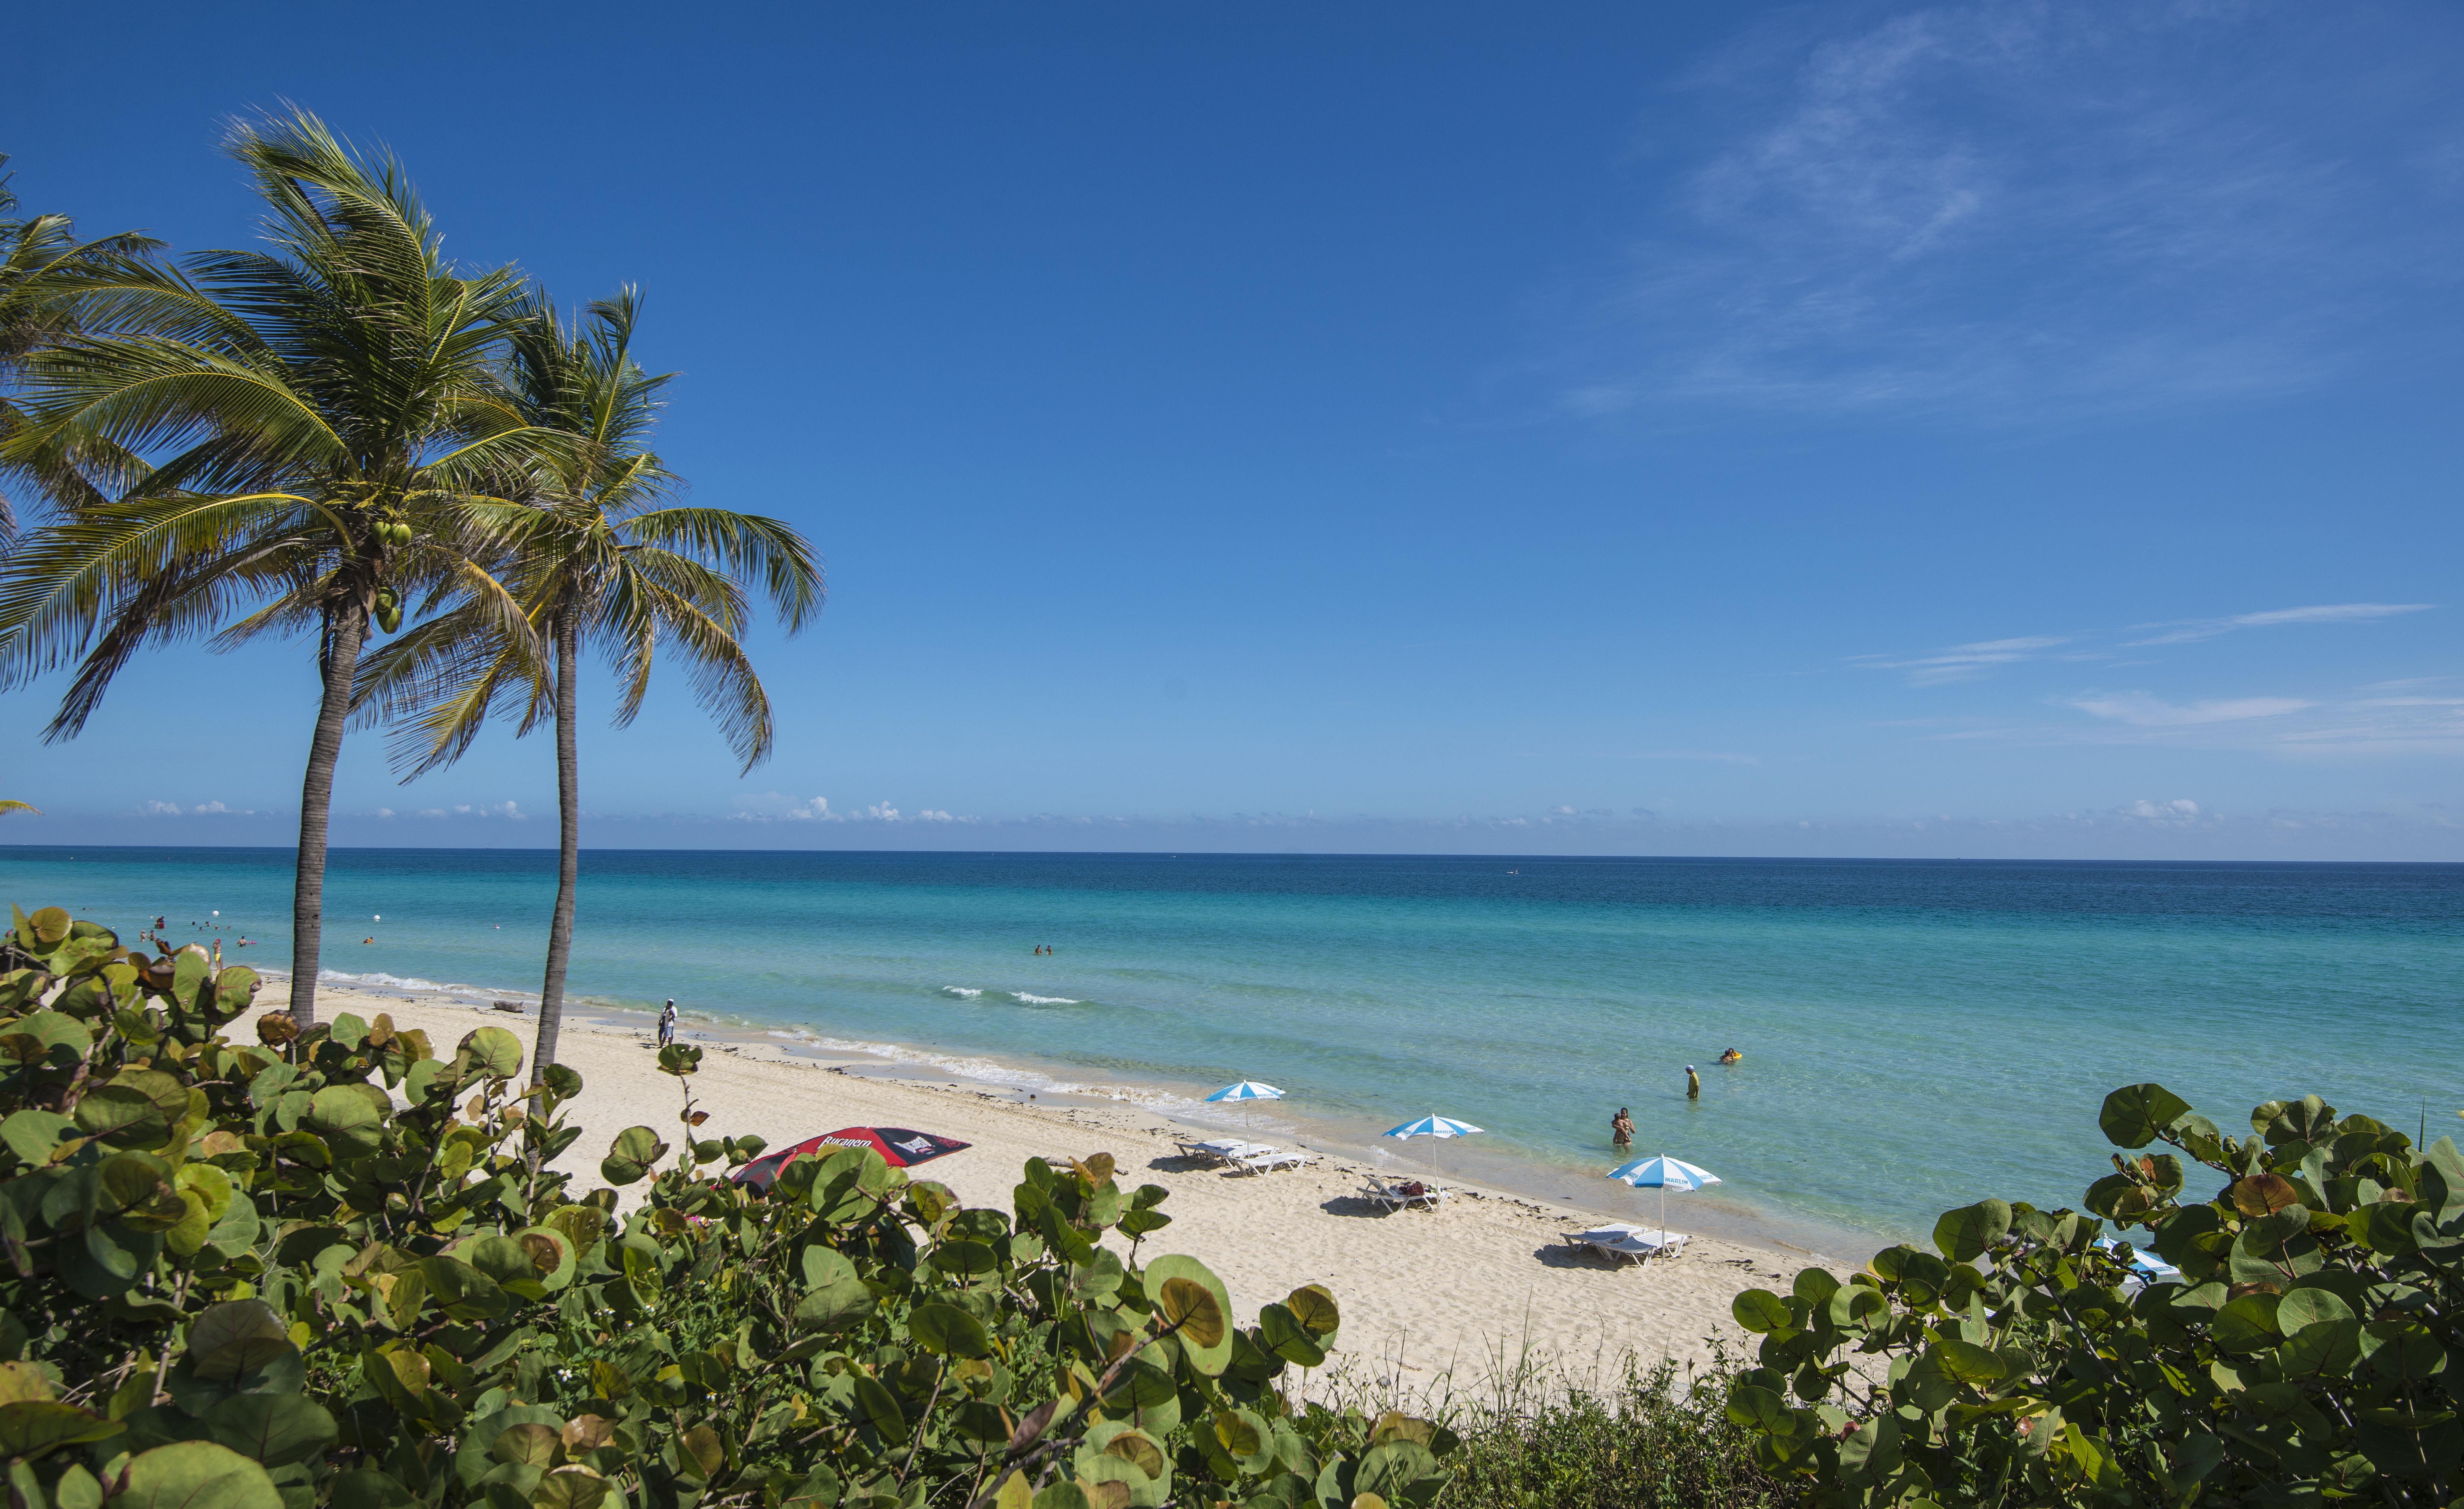
<svg viewBox="0 0 2464 1509"><path fill-rule="evenodd" d="M1764 1467L1858 1507L2464 1502L2454 1142L2316 1095L2227 1137L2163 1085L2102 1129L2126 1154L2085 1213L1981 1201L1934 1253L1740 1294L1762 1366L1730 1418ZM2181 1277L2134 1277L2139 1248Z"/></svg>

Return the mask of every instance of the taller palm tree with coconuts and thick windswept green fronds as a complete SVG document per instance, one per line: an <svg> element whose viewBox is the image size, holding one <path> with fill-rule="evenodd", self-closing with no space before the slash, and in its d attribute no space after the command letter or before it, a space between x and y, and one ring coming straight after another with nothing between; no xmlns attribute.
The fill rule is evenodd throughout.
<svg viewBox="0 0 2464 1509"><path fill-rule="evenodd" d="M370 624L389 631L407 592L446 579L488 602L468 510L488 476L557 441L493 380L527 308L520 276L448 266L394 158L360 158L306 113L239 126L229 145L266 200L269 249L121 279L108 293L145 333L74 338L25 365L27 424L0 459L74 471L106 498L10 552L0 683L76 663L44 730L62 740L148 644L315 631L291 900L306 1023L333 769Z"/></svg>

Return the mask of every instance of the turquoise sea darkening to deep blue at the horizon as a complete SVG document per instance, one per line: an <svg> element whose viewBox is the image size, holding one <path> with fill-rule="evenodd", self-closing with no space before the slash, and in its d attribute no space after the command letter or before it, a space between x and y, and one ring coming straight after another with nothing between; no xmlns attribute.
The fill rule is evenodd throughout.
<svg viewBox="0 0 2464 1509"><path fill-rule="evenodd" d="M288 851L0 848L0 890L288 962ZM535 994L552 898L549 853L335 851L325 964ZM572 991L1173 1114L1266 1080L1252 1127L1607 1208L1658 1198L1599 1179L1624 1105L1722 1174L1698 1225L1836 1250L2075 1203L2136 1080L2459 1129L2464 865L594 851ZM1380 1144L1424 1112L1486 1137Z"/></svg>

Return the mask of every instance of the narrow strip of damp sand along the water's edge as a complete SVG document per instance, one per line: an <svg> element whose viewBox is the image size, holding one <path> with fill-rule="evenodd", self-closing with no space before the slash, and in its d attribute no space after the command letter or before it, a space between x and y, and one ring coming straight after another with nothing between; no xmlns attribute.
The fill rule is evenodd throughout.
<svg viewBox="0 0 2464 1509"><path fill-rule="evenodd" d="M229 962L229 959L227 959ZM269 989L288 994L288 971L259 969ZM320 971L318 996L333 991L365 994L370 999L439 1001L468 1006L483 1016L515 1016L493 1011L493 1001L517 1004L520 1018L537 1026L537 991L488 989L471 984L441 984L419 976L394 976L382 971L350 974ZM567 996L564 1026L589 1021L599 1031L648 1036L655 1011L650 1006L626 1006L601 996ZM1215 1107L1183 1087L1156 1082L1082 1082L1067 1065L1037 1065L993 1058L981 1050L936 1048L902 1041L850 1041L811 1028L779 1028L749 1018L732 1018L705 1008L678 1008L680 1036L685 1041L724 1043L734 1050L771 1050L788 1060L813 1063L838 1073L936 1082L954 1087L995 1090L1015 1105L1077 1105L1077 1107L1136 1107L1148 1117L1163 1117L1183 1132L1220 1137L1227 1132L1249 1134L1262 1142L1303 1144L1313 1151L1335 1154L1355 1164L1375 1166L1390 1176L1441 1179L1491 1191L1498 1198L1523 1198L1540 1208L1574 1211L1609 1221L1636 1221L1661 1225L1661 1198L1656 1191L1629 1191L1602 1176L1550 1164L1528 1151L1496 1151L1478 1139L1412 1139L1387 1142L1375 1132L1345 1127L1326 1117L1313 1117L1289 1100L1242 1102L1239 1110ZM525 1033L527 1041L527 1033ZM444 1048L444 1045L439 1045ZM1634 1156L1651 1156L1634 1149ZM1602 1154L1604 1161L1621 1161L1624 1154ZM1597 1186L1597 1188L1587 1188ZM1668 1225L1695 1230L1722 1240L1779 1253L1796 1262L1823 1267L1863 1267L1865 1258L1892 1240L1919 1240L1902 1233L1855 1230L1836 1223L1804 1218L1796 1213L1772 1213L1725 1198L1712 1191L1680 1193L1668 1203Z"/></svg>

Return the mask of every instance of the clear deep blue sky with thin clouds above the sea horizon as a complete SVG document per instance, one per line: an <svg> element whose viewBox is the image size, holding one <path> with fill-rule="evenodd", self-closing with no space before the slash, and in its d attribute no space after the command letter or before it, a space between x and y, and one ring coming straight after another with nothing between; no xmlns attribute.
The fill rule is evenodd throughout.
<svg viewBox="0 0 2464 1509"><path fill-rule="evenodd" d="M219 121L291 99L456 256L648 291L670 466L833 602L752 777L594 718L591 843L2457 861L2459 62L2437 5L52 7L0 150L241 244ZM278 843L313 693L12 693L7 838ZM549 745L360 737L335 806L552 843Z"/></svg>

